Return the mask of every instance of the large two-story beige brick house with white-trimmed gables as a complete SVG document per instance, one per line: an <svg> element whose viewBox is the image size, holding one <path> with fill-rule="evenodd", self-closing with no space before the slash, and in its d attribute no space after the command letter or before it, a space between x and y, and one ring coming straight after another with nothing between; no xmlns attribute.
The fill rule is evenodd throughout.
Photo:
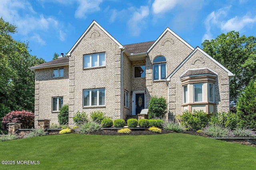
<svg viewBox="0 0 256 170"><path fill-rule="evenodd" d="M234 76L169 28L156 41L122 45L96 21L66 57L30 69L35 71L35 120L58 123L60 107L68 104L70 126L77 111L126 119L148 108L152 96L166 99L169 118L186 109L229 111Z"/></svg>

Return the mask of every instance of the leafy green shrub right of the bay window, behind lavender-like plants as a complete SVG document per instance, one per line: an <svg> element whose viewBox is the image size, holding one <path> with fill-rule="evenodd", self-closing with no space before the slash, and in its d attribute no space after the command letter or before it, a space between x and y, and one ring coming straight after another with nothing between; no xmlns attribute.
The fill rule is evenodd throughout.
<svg viewBox="0 0 256 170"><path fill-rule="evenodd" d="M235 129L239 123L239 117L236 113L232 112L220 112L215 113L215 115L212 115L210 118L210 125L219 124L223 127L230 127L230 129Z"/></svg>

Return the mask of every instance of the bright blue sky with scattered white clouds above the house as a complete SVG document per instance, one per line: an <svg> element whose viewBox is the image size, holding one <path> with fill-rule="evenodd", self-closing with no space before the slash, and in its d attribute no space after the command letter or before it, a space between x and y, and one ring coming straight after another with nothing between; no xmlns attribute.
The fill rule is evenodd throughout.
<svg viewBox="0 0 256 170"><path fill-rule="evenodd" d="M93 20L122 45L154 41L166 27L193 47L232 30L256 36L255 0L0 0L0 16L46 61L67 53Z"/></svg>

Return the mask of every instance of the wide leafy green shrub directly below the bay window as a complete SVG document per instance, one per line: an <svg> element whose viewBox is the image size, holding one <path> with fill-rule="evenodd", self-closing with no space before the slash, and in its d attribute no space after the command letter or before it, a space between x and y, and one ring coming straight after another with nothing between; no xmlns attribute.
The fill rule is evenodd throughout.
<svg viewBox="0 0 256 170"><path fill-rule="evenodd" d="M181 125L192 131L200 130L208 124L207 115L202 110L194 110L193 113L186 110L182 115L176 116L176 118Z"/></svg>

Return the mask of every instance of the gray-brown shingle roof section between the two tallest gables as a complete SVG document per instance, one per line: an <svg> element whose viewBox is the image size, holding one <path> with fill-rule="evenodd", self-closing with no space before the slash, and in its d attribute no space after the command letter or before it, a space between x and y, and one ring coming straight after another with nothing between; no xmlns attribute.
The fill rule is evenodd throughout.
<svg viewBox="0 0 256 170"><path fill-rule="evenodd" d="M145 53L155 41L124 45L124 49L130 54Z"/></svg>

